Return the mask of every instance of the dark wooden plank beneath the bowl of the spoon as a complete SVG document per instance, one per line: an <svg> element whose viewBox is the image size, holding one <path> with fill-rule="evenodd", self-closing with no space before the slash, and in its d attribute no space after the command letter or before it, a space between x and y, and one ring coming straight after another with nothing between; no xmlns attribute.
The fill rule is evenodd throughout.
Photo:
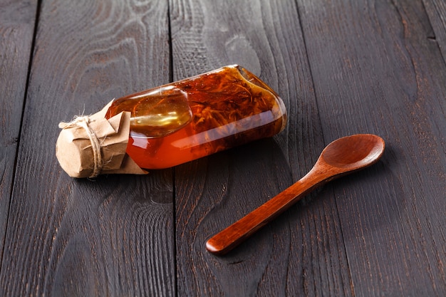
<svg viewBox="0 0 446 297"><path fill-rule="evenodd" d="M446 73L420 1L299 1L323 135L382 162L334 182L355 296L445 296Z"/></svg>

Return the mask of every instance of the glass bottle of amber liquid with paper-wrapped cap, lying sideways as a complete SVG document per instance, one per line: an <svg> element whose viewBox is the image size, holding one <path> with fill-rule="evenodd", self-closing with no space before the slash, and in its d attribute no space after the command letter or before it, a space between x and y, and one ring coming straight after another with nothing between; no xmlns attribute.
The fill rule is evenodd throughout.
<svg viewBox="0 0 446 297"><path fill-rule="evenodd" d="M271 137L285 125L274 90L244 68L226 66L60 123L56 156L71 177L145 174Z"/></svg>

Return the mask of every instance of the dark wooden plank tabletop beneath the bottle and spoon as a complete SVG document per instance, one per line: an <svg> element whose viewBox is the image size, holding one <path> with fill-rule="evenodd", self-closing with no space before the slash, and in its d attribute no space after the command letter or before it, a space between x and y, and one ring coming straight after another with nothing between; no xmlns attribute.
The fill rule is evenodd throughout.
<svg viewBox="0 0 446 297"><path fill-rule="evenodd" d="M0 0L0 296L446 296L444 0ZM238 63L274 138L147 176L73 179L58 122ZM386 141L227 256L212 234L328 142Z"/></svg>

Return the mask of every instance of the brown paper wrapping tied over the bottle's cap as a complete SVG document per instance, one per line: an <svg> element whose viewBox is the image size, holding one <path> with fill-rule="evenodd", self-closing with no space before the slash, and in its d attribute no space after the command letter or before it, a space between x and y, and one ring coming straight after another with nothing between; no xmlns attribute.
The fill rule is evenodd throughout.
<svg viewBox="0 0 446 297"><path fill-rule="evenodd" d="M109 173L147 174L125 153L130 135L130 112L120 113L108 120L105 118L112 102L94 115L59 124L62 130L56 142L56 157L71 177L95 177ZM92 135L93 140L96 137L94 141L90 139ZM99 150L95 151L95 144L100 147Z"/></svg>

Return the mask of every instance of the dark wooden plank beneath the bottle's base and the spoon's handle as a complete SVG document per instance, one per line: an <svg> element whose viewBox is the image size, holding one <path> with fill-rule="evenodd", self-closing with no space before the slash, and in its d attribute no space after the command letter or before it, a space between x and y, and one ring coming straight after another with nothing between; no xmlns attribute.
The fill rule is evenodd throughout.
<svg viewBox="0 0 446 297"><path fill-rule="evenodd" d="M180 296L352 294L329 188L227 256L204 249L212 234L305 174L323 149L297 9L294 1L275 2L171 1L175 79L239 63L279 92L289 111L288 127L274 140L175 170Z"/></svg>

